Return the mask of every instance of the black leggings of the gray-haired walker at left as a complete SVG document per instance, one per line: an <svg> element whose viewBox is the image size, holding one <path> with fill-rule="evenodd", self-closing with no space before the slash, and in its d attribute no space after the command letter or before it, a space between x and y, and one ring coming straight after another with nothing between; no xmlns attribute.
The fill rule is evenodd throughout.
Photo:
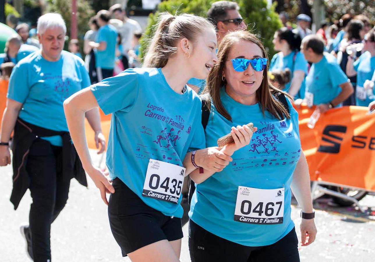
<svg viewBox="0 0 375 262"><path fill-rule="evenodd" d="M30 177L33 203L30 207L30 231L34 261L51 259L51 223L68 200L70 180L62 178L62 147L37 139L30 147L26 170Z"/></svg>

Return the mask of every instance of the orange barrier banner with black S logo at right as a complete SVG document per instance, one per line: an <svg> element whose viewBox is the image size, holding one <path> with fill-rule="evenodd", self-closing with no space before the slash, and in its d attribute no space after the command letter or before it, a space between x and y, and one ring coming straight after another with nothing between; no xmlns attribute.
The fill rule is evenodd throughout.
<svg viewBox="0 0 375 262"><path fill-rule="evenodd" d="M311 180L375 191L375 114L366 115L362 106L334 108L310 129L314 109L296 110Z"/></svg>

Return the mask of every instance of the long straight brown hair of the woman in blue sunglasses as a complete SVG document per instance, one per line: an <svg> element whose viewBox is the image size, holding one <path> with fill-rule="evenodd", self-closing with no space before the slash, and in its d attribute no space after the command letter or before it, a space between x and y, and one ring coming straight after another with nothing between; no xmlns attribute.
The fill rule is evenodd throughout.
<svg viewBox="0 0 375 262"><path fill-rule="evenodd" d="M226 81L222 79L222 73L225 66L225 61L228 59L228 54L232 46L238 42L238 40L250 41L258 45L262 49L263 57L268 59L266 49L263 46L263 43L255 36L255 34L249 33L248 31L234 31L226 34L220 42L219 51L217 52L218 63L216 63L211 72L208 74L207 85L204 88L203 94L210 94L213 104L223 117L232 121L231 115L225 110L224 106L220 100L220 88L226 84ZM251 65L249 65L251 66ZM286 96L290 97L284 91L280 91L278 88L274 87L268 79L268 66L263 70L263 81L256 91L255 95L261 106L263 115L265 111L269 111L273 116L282 120L284 117L290 118L288 110L284 105L274 96L279 93L283 93ZM207 101L207 106L210 108L210 102Z"/></svg>

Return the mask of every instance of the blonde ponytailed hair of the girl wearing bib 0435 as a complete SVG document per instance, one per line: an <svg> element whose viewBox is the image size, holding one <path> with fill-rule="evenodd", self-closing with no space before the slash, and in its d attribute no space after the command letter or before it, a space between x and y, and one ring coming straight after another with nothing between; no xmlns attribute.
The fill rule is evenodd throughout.
<svg viewBox="0 0 375 262"><path fill-rule="evenodd" d="M214 30L213 24L206 18L186 13L174 16L163 12L156 26L153 37L149 39L143 67L165 66L168 58L177 52L178 40L186 38L195 42L196 37L205 29Z"/></svg>

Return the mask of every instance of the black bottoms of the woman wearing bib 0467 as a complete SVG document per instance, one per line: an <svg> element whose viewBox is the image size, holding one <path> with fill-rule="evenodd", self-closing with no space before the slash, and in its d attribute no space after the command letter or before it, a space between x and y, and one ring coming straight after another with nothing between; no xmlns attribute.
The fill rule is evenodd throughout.
<svg viewBox="0 0 375 262"><path fill-rule="evenodd" d="M294 228L272 245L248 247L218 237L190 220L189 251L192 262L300 261L298 239Z"/></svg>

